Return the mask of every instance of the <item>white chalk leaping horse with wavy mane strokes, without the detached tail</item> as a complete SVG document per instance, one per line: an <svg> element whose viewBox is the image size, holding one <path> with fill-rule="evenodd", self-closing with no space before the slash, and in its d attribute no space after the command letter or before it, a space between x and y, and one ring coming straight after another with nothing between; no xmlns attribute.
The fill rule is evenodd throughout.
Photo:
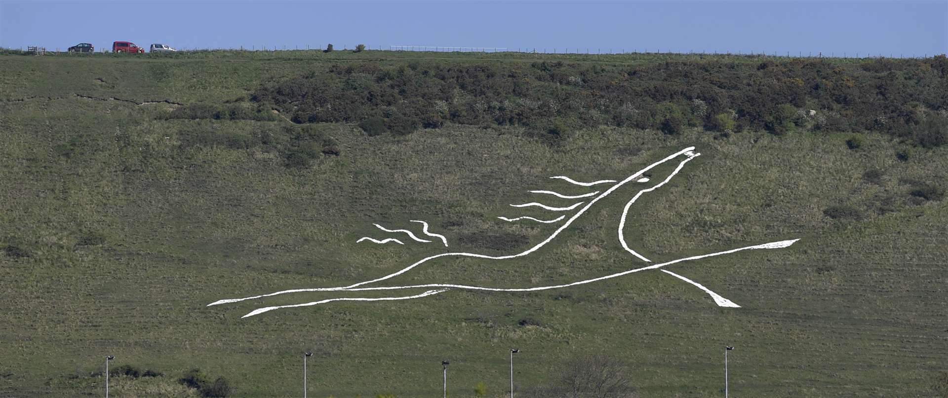
<svg viewBox="0 0 948 398"><path fill-rule="evenodd" d="M716 252L716 253L704 254L704 255L700 255L700 256L686 257L686 258L682 258L682 259L678 259L678 260L673 260L673 261L670 261L670 262L652 263L652 262L649 261L646 257L642 256L641 254L639 254L639 253L637 253L635 250L633 250L631 247L629 247L629 244L626 242L625 233L624 233L624 231L623 231L623 229L625 228L625 224L626 224L626 218L627 218L628 215L629 215L629 208L631 208L632 204L634 204L634 203L639 199L639 197L642 196L644 193L650 192L650 191L652 191L652 190L657 190L658 188L660 188L660 187L662 187L663 185L665 185L665 183L667 183L669 180L671 180L671 178L672 178L673 176L675 176L675 174L677 174L678 172L680 172L680 171L682 170L682 168L684 168L684 165L685 165L687 162L691 161L692 159L694 159L695 157L697 157L697 156L699 156L699 155L701 155L701 154L696 153L694 147L684 148L683 150L681 150L681 151L679 151L679 152L677 152L677 153L675 153L675 154L671 154L671 155L665 157L664 159L659 160L659 161L657 161L657 162L655 162L655 163L652 163L652 164L648 165L646 168L644 168L644 169L642 169L642 170L640 170L640 171L638 171L638 172L635 172L635 173L629 175L629 177L623 179L622 181L601 180L601 181L594 181L594 182L589 182L589 183L582 183L582 182L574 181L574 180L572 180L572 179L570 179L570 178L568 178L568 177L565 177L565 176L551 177L551 178L557 178L557 179L565 180L565 181L570 182L570 183L572 183L572 184L579 185L579 186L583 186L583 187L593 187L593 189L595 189L594 186L603 186L604 188L605 188L605 187L609 187L609 188L608 188L608 189L605 189L605 190L593 191L593 192L591 192L591 193L587 193L587 194L584 194L584 195L574 195L574 196L562 195L562 194L556 193L556 192L554 192L554 191L549 191L549 190L533 190L533 191L532 191L532 192L535 192L535 193L544 193L544 194L556 195L556 196L559 197L559 198L579 199L579 200L585 200L585 201L586 201L585 203L580 202L580 203L574 204L574 206L571 206L571 207L569 207L569 208L551 208L551 207L547 207L547 206L545 206L545 205L541 205L541 204L538 204L538 203L524 204L524 205L512 205L512 206L517 207L517 208L539 207L539 208L545 208L545 209L550 209L550 210L554 210L554 211L565 211L565 210L572 210L572 209L574 209L574 208L578 208L578 210L577 210L572 216L569 216L568 218L567 218L567 216L563 216L563 217L560 217L560 218L558 218L558 219L556 219L556 220L542 221L542 220L538 220L538 219L534 219L534 218L530 218L530 217L524 217L524 218L528 218L528 219L531 219L531 220L534 220L534 221L538 221L538 222L541 222L541 223L562 222L562 225L560 225L559 227L557 227L556 230L554 230L553 233L552 233L551 235L549 235L545 240L543 240L542 242L540 242L540 243L538 243L538 244L535 244L535 245L531 246L531 247L528 248L527 250L522 251L522 252L520 252L520 253L510 254L510 255L505 255L505 256L490 256L490 255L484 255L484 254L462 253L462 252L442 253L442 254L437 254L437 255L433 255L433 256L426 257L426 258L421 259L421 260L419 260L419 261L417 261L417 262L411 263L409 266L406 266L405 268L402 268L401 270L399 270L399 271L397 271L397 272L394 272L394 273L392 273L392 274L386 275L386 276L384 276L384 277L376 278L376 279L374 279L374 280L365 280L365 281L361 281L361 282L358 282L358 283L353 283L353 284L350 284L350 285L347 285L347 286L318 287L318 288L305 288L305 289L291 289L291 290L283 290L283 291L280 291L280 292L274 292L274 293L269 293L269 294L265 294L265 295L252 296L252 297L246 297L246 298L227 298L227 299L221 299L221 300L212 302L212 303L210 303L210 304L208 304L208 305L211 306L211 305L225 304L225 303L229 303L229 302L243 301L243 300L247 300L247 299L267 298L267 297L272 297L272 296L278 296L278 295L289 294L289 293L300 293L300 292L369 292L369 291L389 291L389 290L394 291L394 290L405 290L405 289L416 289L416 290L418 290L418 289L427 289L424 293L417 294L417 295L412 295L412 296L384 297L384 298L351 298L351 297L346 297L346 298L326 298L326 299L321 299L321 300L318 300L318 301L304 302L304 303L301 303L301 304L291 304L291 305L280 305L280 306L264 307L264 308L259 308L259 309L257 309L257 310L254 310L254 311L250 312L249 314L247 314L246 316L244 316L244 317L253 317L253 316L255 316L255 315L259 315L259 314L265 313L265 312L267 312L267 311L272 311L272 310L276 310L276 309L292 308L292 307L305 307L305 306L310 306L310 305L323 304L323 303L327 303L327 302L331 302L331 301L379 301L379 300L401 300L401 299L411 299L411 298L424 298L424 297L436 295L436 294L439 294L439 293L443 293L443 292L446 292L446 291L451 290L451 289L482 290L482 291L495 291L495 292L531 292L531 291L539 291L539 290L558 289L558 288L570 287L570 286L575 286L575 285L580 285L580 284L592 283L592 282L594 282L594 281L599 281L599 280L608 280L608 279L611 279L611 278L621 277L621 276L624 276L624 275L628 275L628 274L632 274L632 273L636 273L636 272L640 272L640 271L660 270L660 271L664 272L665 274L668 274L668 275L670 275L670 276L673 276L673 277L675 277L675 278L677 278L677 279L679 279L679 280L684 280L684 281L686 281L686 282L688 282L688 283L690 283L690 284L692 284L692 285L698 287L699 289L701 289L702 291L704 291L705 293L707 293L709 296L711 296L711 298L714 298L715 303L717 303L717 304L718 304L719 306L721 306L721 307L734 307L734 308L738 308L738 307L739 307L738 304L735 304L733 301L731 301L731 300L729 300L729 299L727 299L727 298L721 297L719 294L717 294L717 293L715 293L715 292L712 292L710 289L708 289L708 288L702 286L700 283L695 282L694 280L689 280L689 279L685 278L685 277L682 276L682 275L679 275L679 274L676 274L676 273L674 273L674 272L671 272L671 271L669 271L669 270L667 270L667 269L664 269L665 265L670 265L670 264L674 264L674 263L678 263L678 262L688 262L688 261L703 259L703 258L707 258L707 257L720 256L720 255L722 255L722 254L734 253L734 252L738 252L738 251L741 251L741 250L769 249L769 248L787 247L787 246L790 246L791 244L793 244L794 242L796 242L797 239L789 240L789 241L772 242L772 243L768 243L768 244L756 244L756 245L752 245L752 246L739 247L739 248L736 248L736 249L731 249L731 250L726 250L726 251L720 251L720 252ZM656 167L658 167L658 166L660 166L660 165L663 165L663 164L665 164L665 163L674 164L675 161L678 162L677 166L675 166L674 170L673 170L672 172L669 172L668 175L665 176L664 179L661 179L661 180L652 180L652 181L650 181L650 180L646 177L647 173L648 173L649 171L652 171L652 170L655 169ZM569 228L570 226L574 225L574 222L575 222L580 216L582 216L584 213L586 213L587 210L589 210L590 208L593 208L593 206L596 204L596 202L599 202L599 201L602 200L603 198L606 198L607 196L611 195L613 192L615 192L616 190L619 190L620 188L623 188L623 187L641 187L639 184L644 184L644 183L647 183L647 182L649 182L649 181L651 182L651 184L647 184L647 188L644 188L644 189L642 189L642 190L638 190L638 191L629 199L629 201L626 203L625 208L623 208L622 218L619 220L619 227L618 227L618 231L617 231L617 232L618 232L619 243L622 244L622 247L623 247L627 252L629 252L629 254L631 254L632 256L634 256L634 257L635 257L636 259L638 259L639 261L647 262L647 263L648 263L647 265L640 266L640 267L636 267L636 268L632 268L632 269L629 269L629 270L626 270L626 271L623 271L623 272L619 272L619 273L614 273L614 274L611 274L611 275L606 275L606 276L602 276L602 277L598 277L598 278L588 279L588 280L578 280L578 281L574 281L574 282L571 282L571 283L565 283L565 284L544 285L544 286L531 286L531 287L520 287L520 288L508 288L508 287L499 287L499 286L476 286L476 285L459 284L459 283L422 283L422 284L408 284L408 285L398 285L398 286L384 285L383 283L381 283L381 282L383 282L383 281L385 281L385 280L389 280L389 282L391 283L391 282L392 282L392 280L391 280L392 278L395 278L395 277L398 277L398 276L400 276L400 275L403 275L403 274L405 274L405 273L411 271L412 269L414 269L414 268L416 268L416 267L419 267L419 266L425 264L426 262L429 262L429 261L434 260L434 259L439 259L439 258L445 258L445 257L465 258L465 257L466 257L466 258L476 258L476 259L483 259L483 260L507 260L507 259L515 259L515 258L519 258L519 257L523 257L523 256L528 256L528 255L530 255L531 253L536 252L540 247L543 247L544 245L549 244L551 241L553 241L554 239L556 239L556 237L559 236L561 232L563 232L564 230L566 230L566 229ZM607 184L611 184L611 186L609 186L609 185L607 185ZM562 221L564 218L566 219L566 221ZM508 219L508 218L503 218L503 217L501 217L501 219L502 219L502 220L505 220L505 221L516 221L516 220L519 220L520 218L518 218L518 219ZM446 244L447 244L447 243L446 243ZM351 294L351 293L349 293L349 294Z"/></svg>

